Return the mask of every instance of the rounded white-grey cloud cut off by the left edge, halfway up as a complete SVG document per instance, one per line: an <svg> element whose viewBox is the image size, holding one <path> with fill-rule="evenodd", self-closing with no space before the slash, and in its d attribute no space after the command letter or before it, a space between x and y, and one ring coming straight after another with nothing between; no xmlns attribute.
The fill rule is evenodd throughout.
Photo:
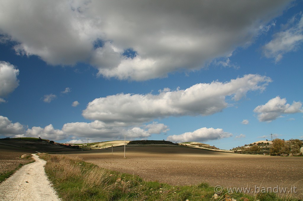
<svg viewBox="0 0 303 201"><path fill-rule="evenodd" d="M17 76L19 70L14 65L0 61L0 97L7 96L19 86ZM3 98L0 98L0 103L5 103Z"/></svg>

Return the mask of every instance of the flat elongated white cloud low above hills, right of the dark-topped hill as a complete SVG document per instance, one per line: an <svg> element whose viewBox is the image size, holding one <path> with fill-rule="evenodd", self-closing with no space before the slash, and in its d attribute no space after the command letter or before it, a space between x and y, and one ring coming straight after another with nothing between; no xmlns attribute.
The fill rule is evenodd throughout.
<svg viewBox="0 0 303 201"><path fill-rule="evenodd" d="M221 138L231 137L232 134L223 129L200 128L194 132L185 132L181 135L168 136L166 140L171 142L206 142Z"/></svg>

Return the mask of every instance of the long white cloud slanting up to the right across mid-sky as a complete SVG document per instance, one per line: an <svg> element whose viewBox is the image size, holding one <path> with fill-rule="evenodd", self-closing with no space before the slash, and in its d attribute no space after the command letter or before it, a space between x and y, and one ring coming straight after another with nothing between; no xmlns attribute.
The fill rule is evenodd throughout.
<svg viewBox="0 0 303 201"><path fill-rule="evenodd" d="M248 91L264 90L271 79L245 75L230 82L200 83L185 90L159 91L159 94L116 94L96 98L82 115L102 122L142 123L168 116L211 115L228 107L226 96L239 101Z"/></svg>

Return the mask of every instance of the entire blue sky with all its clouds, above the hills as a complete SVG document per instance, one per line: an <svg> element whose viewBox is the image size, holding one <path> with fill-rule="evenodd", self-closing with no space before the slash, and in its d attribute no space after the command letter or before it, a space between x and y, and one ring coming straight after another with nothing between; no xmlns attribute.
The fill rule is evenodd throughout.
<svg viewBox="0 0 303 201"><path fill-rule="evenodd" d="M0 1L0 138L303 139L303 1Z"/></svg>

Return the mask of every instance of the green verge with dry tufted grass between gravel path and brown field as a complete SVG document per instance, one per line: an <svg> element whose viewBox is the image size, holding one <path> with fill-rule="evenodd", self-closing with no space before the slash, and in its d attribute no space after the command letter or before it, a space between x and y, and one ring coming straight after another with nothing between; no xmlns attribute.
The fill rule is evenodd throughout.
<svg viewBox="0 0 303 201"><path fill-rule="evenodd" d="M276 194L255 196L227 193L214 197L214 187L207 183L192 186L172 186L157 181L110 171L63 155L39 154L47 161L45 171L62 200L296 200Z"/></svg>

